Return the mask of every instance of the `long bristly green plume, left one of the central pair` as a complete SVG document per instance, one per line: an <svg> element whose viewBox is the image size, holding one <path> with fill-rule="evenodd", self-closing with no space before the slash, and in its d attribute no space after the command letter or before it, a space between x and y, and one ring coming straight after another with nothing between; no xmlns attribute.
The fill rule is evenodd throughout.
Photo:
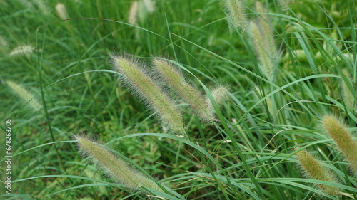
<svg viewBox="0 0 357 200"><path fill-rule="evenodd" d="M137 62L124 58L124 56L111 55L111 63L114 65L113 70L125 75L121 80L124 80L134 93L145 99L158 112L164 124L168 125L174 132L186 135L181 112L162 92L161 88L154 83L154 80L149 78L149 75L142 68L139 68Z"/></svg>

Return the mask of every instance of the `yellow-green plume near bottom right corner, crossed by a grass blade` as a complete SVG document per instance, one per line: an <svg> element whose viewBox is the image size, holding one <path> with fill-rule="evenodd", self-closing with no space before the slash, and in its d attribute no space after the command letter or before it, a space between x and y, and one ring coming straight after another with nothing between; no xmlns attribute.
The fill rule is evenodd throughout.
<svg viewBox="0 0 357 200"><path fill-rule="evenodd" d="M301 171L305 177L316 179L319 181L336 182L332 177L331 172L323 168L322 164L313 158L311 154L308 154L305 150L301 150L296 153L299 164L301 164ZM326 184L316 184L316 187L326 194L331 196L339 196L341 190L335 186L329 186Z"/></svg>

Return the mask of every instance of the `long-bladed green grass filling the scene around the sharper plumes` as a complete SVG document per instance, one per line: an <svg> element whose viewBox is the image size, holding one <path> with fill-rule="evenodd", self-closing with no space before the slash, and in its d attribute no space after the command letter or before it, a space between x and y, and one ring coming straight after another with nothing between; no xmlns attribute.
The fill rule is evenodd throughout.
<svg viewBox="0 0 357 200"><path fill-rule="evenodd" d="M243 28L221 1L157 0L154 11L139 1L129 23L132 2L0 1L1 181L6 119L13 155L11 195L1 186L1 199L157 196L103 175L77 152L79 134L166 182L166 199L357 199L357 172L321 122L338 117L356 141L356 1L261 1L261 13L247 0ZM258 19L277 51L272 79L250 31ZM226 86L218 120L203 122L177 99L188 137L174 135L110 71L115 52L148 70L155 56L174 60L208 98ZM336 182L303 177L302 149Z"/></svg>

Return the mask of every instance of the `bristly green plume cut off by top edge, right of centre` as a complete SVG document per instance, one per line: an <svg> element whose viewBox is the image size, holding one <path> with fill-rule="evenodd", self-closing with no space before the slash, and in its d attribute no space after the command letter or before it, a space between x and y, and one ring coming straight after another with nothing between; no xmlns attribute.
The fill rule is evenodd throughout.
<svg viewBox="0 0 357 200"><path fill-rule="evenodd" d="M234 28L240 28L242 31L246 28L247 20L243 0L223 0L223 7L226 10L228 19Z"/></svg>

